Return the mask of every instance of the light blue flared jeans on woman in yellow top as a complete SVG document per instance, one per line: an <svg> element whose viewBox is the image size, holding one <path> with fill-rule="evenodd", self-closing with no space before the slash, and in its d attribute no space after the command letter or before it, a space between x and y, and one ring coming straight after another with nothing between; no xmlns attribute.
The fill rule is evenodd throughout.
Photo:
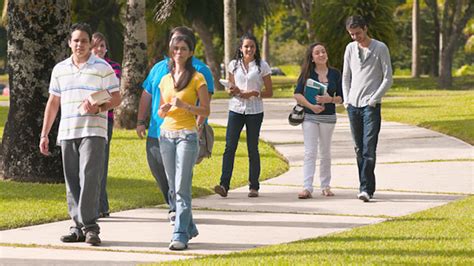
<svg viewBox="0 0 474 266"><path fill-rule="evenodd" d="M160 136L160 151L168 177L170 199L176 204L176 221L172 241L187 244L198 234L191 212L193 167L199 151L197 132L177 137Z"/></svg>

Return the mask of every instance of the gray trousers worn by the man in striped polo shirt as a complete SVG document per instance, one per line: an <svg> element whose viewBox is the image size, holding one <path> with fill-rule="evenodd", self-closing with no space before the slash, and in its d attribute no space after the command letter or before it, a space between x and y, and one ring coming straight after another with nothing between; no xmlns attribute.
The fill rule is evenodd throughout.
<svg viewBox="0 0 474 266"><path fill-rule="evenodd" d="M61 141L68 212L75 226L99 233L97 224L100 182L104 171L106 140L102 137L85 137Z"/></svg>

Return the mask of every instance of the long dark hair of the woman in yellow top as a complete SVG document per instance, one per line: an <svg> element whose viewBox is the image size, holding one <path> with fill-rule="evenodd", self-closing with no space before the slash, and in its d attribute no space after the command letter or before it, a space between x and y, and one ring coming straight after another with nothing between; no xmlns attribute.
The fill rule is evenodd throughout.
<svg viewBox="0 0 474 266"><path fill-rule="evenodd" d="M176 46L176 44L178 42L185 42L186 45L188 46L189 50L191 52L194 51L194 43L191 40L191 38L189 38L188 36L185 36L185 35L174 37L171 40L170 49L169 49L170 60L168 62L168 69L169 69L170 73L173 73L174 69L175 69L175 63L174 63L174 60L173 60L173 51L174 51L174 47ZM181 77L179 77L179 80L175 84L176 85L176 88L175 88L176 91L181 91L186 86L188 86L188 84L191 81L194 73L196 72L196 69L193 67L192 61L193 61L192 56L190 56L188 58L188 60L186 60L186 65L184 67L184 73L181 75Z"/></svg>

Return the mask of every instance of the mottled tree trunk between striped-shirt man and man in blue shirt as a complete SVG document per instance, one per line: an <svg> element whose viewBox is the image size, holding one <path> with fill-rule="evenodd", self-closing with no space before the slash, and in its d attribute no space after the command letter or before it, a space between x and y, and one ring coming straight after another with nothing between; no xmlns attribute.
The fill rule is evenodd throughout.
<svg viewBox="0 0 474 266"><path fill-rule="evenodd" d="M116 125L135 128L141 84L146 77L146 22L145 0L128 0L124 33L122 80L120 92L122 104L115 110Z"/></svg>

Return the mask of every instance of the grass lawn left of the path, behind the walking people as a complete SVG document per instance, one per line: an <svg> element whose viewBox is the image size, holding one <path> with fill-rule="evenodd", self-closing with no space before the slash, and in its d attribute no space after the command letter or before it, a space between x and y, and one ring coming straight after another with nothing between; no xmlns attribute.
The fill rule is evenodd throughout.
<svg viewBox="0 0 474 266"><path fill-rule="evenodd" d="M1 131L4 111L0 107ZM2 121L3 119L3 121ZM219 183L225 128L214 126L213 155L194 169L193 197L212 194ZM247 184L248 157L245 134L236 153L232 187ZM115 130L111 144L107 190L111 211L162 204L163 197L146 162L145 140L139 140L134 130ZM288 170L288 164L270 145L260 143L261 179L278 176ZM31 184L0 181L0 229L68 219L64 184Z"/></svg>

